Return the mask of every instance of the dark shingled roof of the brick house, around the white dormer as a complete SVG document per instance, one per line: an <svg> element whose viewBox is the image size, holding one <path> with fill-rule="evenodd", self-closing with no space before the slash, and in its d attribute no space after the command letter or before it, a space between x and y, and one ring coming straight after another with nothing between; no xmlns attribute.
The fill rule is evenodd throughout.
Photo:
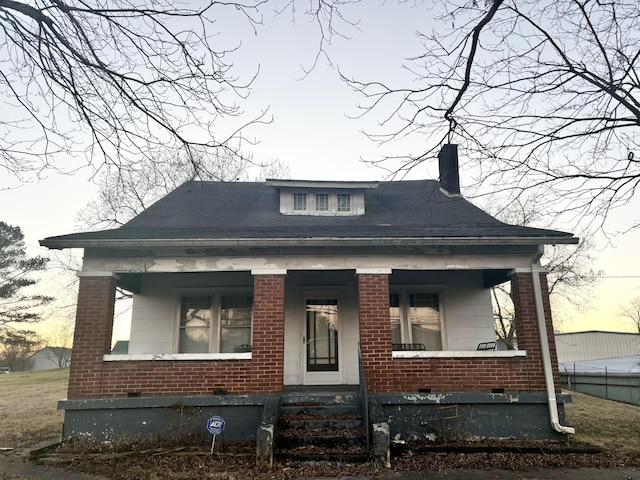
<svg viewBox="0 0 640 480"><path fill-rule="evenodd" d="M278 189L266 183L187 182L120 228L41 243L60 248L127 239L573 238L504 224L460 196L445 195L434 180L379 182L365 190L361 216L282 215L279 202Z"/></svg>

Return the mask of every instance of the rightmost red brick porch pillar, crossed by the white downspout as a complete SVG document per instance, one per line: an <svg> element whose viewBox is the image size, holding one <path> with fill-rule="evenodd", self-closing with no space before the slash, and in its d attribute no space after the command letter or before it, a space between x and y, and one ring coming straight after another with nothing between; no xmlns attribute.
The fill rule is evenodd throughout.
<svg viewBox="0 0 640 480"><path fill-rule="evenodd" d="M544 273L540 273L540 284L542 288L542 303L547 326L547 338L549 339L554 383L556 391L559 392L560 375L558 373L553 321L551 318L551 307L549 305L549 287L547 284L547 276ZM542 349L540 347L540 334L531 273L516 273L511 277L511 297L513 298L515 307L518 348L527 351L527 365L532 383L536 386L537 390L545 390Z"/></svg>

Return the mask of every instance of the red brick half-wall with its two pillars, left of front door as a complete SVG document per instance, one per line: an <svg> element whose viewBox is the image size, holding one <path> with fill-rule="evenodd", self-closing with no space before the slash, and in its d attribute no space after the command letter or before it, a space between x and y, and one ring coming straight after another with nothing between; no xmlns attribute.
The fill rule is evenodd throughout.
<svg viewBox="0 0 640 480"><path fill-rule="evenodd" d="M254 280L251 360L103 362L111 351L115 279L81 277L68 398L282 391L284 275Z"/></svg>

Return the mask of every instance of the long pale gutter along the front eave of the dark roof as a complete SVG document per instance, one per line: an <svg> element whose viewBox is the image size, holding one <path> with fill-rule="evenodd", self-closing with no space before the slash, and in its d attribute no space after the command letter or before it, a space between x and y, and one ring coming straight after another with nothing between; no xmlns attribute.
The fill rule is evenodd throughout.
<svg viewBox="0 0 640 480"><path fill-rule="evenodd" d="M307 237L307 238L48 238L40 245L64 248L246 248L246 247L367 247L367 246L478 246L478 245L575 245L566 237Z"/></svg>

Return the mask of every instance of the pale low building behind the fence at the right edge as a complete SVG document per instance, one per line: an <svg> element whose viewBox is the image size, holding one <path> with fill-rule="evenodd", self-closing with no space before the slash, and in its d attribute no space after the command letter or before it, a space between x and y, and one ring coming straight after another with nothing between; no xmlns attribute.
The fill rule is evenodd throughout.
<svg viewBox="0 0 640 480"><path fill-rule="evenodd" d="M560 372L640 373L640 334L556 333Z"/></svg>

